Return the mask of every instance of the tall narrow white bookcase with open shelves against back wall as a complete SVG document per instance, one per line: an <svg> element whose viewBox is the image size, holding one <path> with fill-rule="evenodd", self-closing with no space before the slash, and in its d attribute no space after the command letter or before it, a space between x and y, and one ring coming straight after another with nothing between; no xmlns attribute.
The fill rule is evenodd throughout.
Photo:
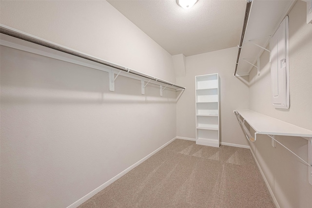
<svg viewBox="0 0 312 208"><path fill-rule="evenodd" d="M219 147L219 75L195 76L196 144Z"/></svg>

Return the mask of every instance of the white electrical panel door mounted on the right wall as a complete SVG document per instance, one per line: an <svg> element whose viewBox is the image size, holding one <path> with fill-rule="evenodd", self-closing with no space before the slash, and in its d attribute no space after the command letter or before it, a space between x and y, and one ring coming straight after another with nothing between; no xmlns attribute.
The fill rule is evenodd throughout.
<svg viewBox="0 0 312 208"><path fill-rule="evenodd" d="M272 101L275 108L283 109L290 104L288 28L287 16L270 40Z"/></svg>

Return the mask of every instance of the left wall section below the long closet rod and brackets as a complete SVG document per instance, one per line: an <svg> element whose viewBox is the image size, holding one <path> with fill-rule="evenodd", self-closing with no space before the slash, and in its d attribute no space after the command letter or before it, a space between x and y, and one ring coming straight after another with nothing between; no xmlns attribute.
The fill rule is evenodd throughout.
<svg viewBox="0 0 312 208"><path fill-rule="evenodd" d="M1 46L1 207L67 207L176 137L176 91Z"/></svg>

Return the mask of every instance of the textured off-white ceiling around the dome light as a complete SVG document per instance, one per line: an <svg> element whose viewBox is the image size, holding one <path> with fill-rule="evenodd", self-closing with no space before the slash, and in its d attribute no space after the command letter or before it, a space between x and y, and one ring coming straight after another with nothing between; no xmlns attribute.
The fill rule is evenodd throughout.
<svg viewBox="0 0 312 208"><path fill-rule="evenodd" d="M192 56L237 46L246 0L198 0L183 9L176 0L108 0L171 55Z"/></svg>

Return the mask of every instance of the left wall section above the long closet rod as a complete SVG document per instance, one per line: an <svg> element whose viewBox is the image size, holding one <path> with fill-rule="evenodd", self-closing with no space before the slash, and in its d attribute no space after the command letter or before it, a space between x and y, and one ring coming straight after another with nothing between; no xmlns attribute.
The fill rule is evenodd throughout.
<svg viewBox="0 0 312 208"><path fill-rule="evenodd" d="M0 4L1 24L175 82L171 55L105 0Z"/></svg>

